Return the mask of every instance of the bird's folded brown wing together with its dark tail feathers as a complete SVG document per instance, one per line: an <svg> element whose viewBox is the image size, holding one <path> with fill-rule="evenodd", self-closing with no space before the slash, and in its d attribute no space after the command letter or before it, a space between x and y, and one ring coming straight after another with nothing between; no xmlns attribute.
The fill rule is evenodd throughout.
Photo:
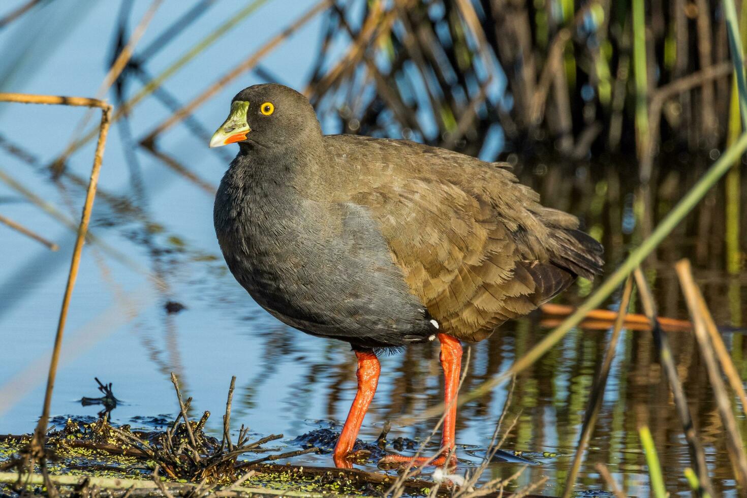
<svg viewBox="0 0 747 498"><path fill-rule="evenodd" d="M482 340L576 276L601 271L601 246L577 231L575 217L543 208L505 168L456 153L433 162L449 160L456 161L449 169L409 167L359 184L351 197L379 222L394 262L442 332Z"/></svg>

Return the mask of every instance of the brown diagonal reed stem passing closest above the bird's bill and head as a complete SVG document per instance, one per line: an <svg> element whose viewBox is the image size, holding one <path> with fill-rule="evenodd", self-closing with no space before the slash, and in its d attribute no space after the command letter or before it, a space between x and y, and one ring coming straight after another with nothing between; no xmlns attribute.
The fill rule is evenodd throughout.
<svg viewBox="0 0 747 498"><path fill-rule="evenodd" d="M288 28L285 28L281 33L277 34L270 41L265 43L264 46L261 46L260 49L247 57L247 59L245 59L225 75L220 77L217 81L214 82L214 84L211 84L210 87L200 93L199 96L196 96L194 99L192 99L191 102L179 109L179 111L173 113L160 125L156 126L152 131L150 131L149 134L147 134L145 137L143 137L142 140L140 140L140 143L147 146L147 144L152 143L155 140L155 137L157 137L159 134L171 128L173 125L176 125L176 123L182 121L182 119L185 119L185 117L193 113L196 108L199 108L200 105L207 102L208 99L210 99L221 89L223 89L226 84L229 84L231 81L238 78L241 74L249 71L249 69L252 69L254 66L256 66L259 61L264 58L265 55L276 49L276 47L287 40L288 37L291 36L291 34L294 34L295 31L298 31L303 27L303 25L306 25L307 22L311 21L311 19L314 19L314 16L316 16L326 7L329 7L329 5L331 4L332 0L319 1L314 5L314 7L311 7L311 9L307 10L306 13L304 13L296 21L291 23Z"/></svg>

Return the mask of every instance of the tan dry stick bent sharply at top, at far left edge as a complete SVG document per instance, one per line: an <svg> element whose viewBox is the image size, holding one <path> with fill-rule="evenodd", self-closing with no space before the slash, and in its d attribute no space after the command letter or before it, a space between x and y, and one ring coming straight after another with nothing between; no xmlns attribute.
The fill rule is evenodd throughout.
<svg viewBox="0 0 747 498"><path fill-rule="evenodd" d="M0 93L0 101L4 102L22 102L26 104L50 104L50 105L75 105L84 107L101 108L101 124L99 125L99 142L96 144L96 152L93 155L93 167L91 169L90 181L86 192L86 200L81 215L81 223L78 225L78 237L75 239L75 247L72 250L72 261L70 261L70 271L67 276L67 284L62 299L62 308L60 310L60 320L58 321L57 333L55 334L55 346L52 349L52 360L49 362L49 376L47 377L46 392L44 393L44 405L42 416L39 418L37 428L34 430L34 439L31 441L31 458L43 455L44 433L49 425L49 405L52 402L52 390L55 388L55 377L57 376L57 366L60 360L60 349L62 346L62 337L65 330L65 321L67 311L70 305L72 289L75 287L75 280L78 278L78 268L81 264L81 252L83 252L83 243L88 231L91 211L93 211L93 199L96 197L96 185L99 182L99 172L101 172L101 163L104 156L104 147L106 137L111 122L111 106L99 99L87 99L84 97L66 97L66 96L49 96L49 95L27 95L22 93Z"/></svg>

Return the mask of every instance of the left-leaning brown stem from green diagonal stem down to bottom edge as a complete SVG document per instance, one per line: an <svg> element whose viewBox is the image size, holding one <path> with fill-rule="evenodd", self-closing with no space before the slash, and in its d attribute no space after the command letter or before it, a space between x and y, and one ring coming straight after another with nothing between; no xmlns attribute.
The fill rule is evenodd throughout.
<svg viewBox="0 0 747 498"><path fill-rule="evenodd" d="M708 467L703 444L698 437L698 432L695 430L695 425L692 423L692 415L690 414L690 409L687 405L687 398L677 373L677 365L675 365L674 356L672 355L672 348L669 347L669 339L666 336L666 333L663 332L659 326L654 296L651 294L651 289L648 287L648 282L646 281L640 267L636 268L633 272L633 276L636 278L636 286L638 287L638 294L641 298L641 304L645 314L649 317L649 320L651 320L651 327L654 332L654 342L657 344L659 349L662 370L669 382L672 396L675 398L675 408L677 408L685 439L687 440L687 448L690 453L692 468L698 476L701 488L703 488L707 494L710 494L711 497L715 497L717 495L713 493L713 486L711 485L710 477L708 476Z"/></svg>

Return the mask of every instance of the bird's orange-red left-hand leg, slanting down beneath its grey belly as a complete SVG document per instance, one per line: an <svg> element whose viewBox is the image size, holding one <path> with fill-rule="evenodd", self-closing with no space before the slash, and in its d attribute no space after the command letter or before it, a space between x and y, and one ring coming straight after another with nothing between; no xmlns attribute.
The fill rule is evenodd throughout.
<svg viewBox="0 0 747 498"><path fill-rule="evenodd" d="M332 454L335 459L335 466L351 469L353 463L347 459L347 454L353 451L353 445L356 443L358 432L361 430L363 417L368 411L368 405L371 405L373 394L376 393L376 385L379 384L379 373L381 365L379 358L373 352L356 351L358 358L358 393L356 399L353 399L353 405L350 406L350 412L347 414L345 425L342 427L340 439L335 445L335 452Z"/></svg>

